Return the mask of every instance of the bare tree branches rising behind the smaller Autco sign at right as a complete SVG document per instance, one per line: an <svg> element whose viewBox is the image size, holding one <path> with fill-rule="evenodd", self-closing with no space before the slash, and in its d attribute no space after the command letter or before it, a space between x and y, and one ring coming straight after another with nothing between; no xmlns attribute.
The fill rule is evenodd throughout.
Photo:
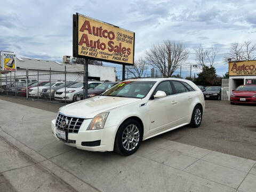
<svg viewBox="0 0 256 192"><path fill-rule="evenodd" d="M231 43L229 53L225 55L224 60L243 61L256 59L256 44L251 41L244 43Z"/></svg>

